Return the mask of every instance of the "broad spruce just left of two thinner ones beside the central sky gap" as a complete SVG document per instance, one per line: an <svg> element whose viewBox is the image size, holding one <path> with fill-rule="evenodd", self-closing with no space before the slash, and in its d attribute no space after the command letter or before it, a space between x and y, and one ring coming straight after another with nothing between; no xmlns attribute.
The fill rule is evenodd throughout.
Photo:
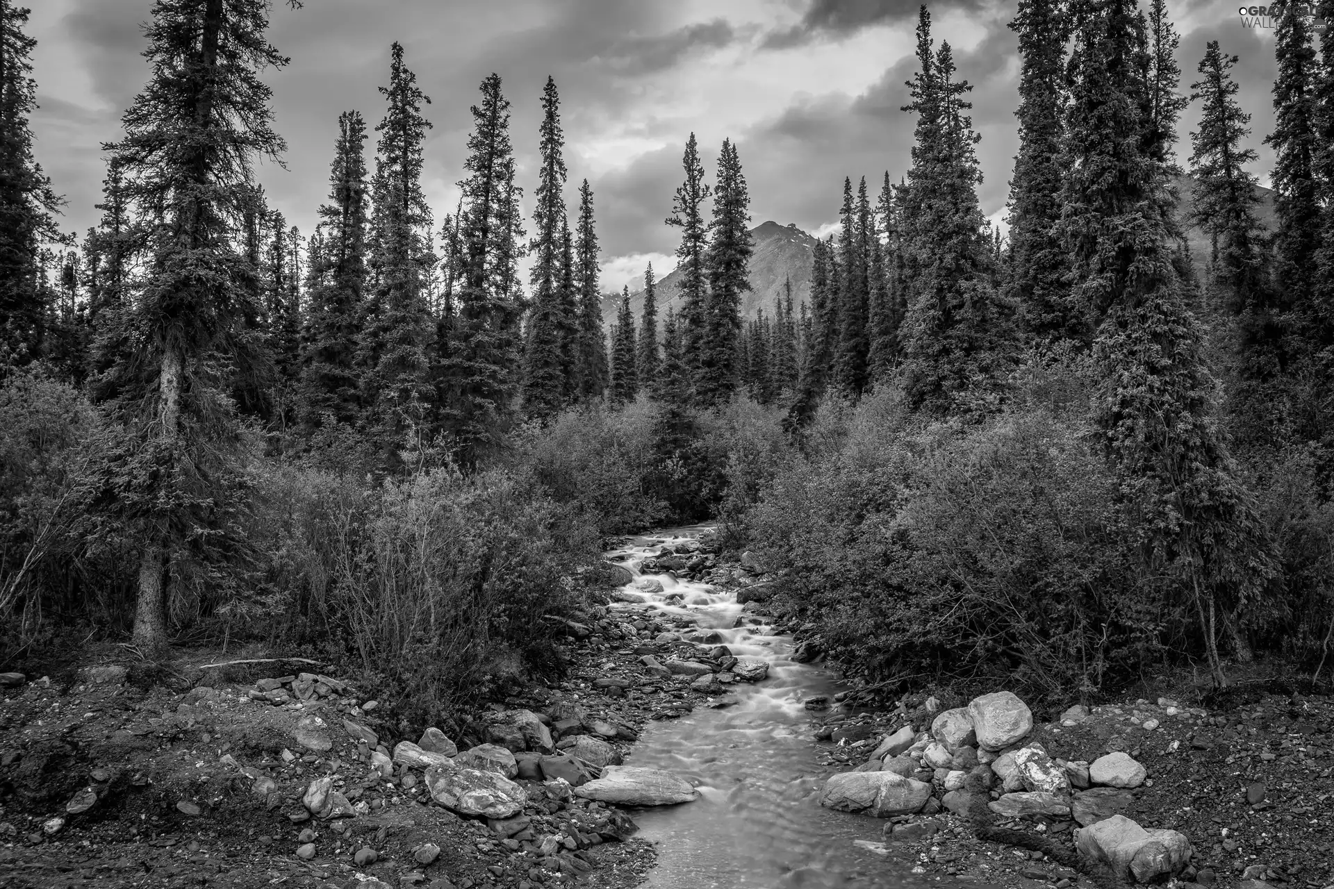
<svg viewBox="0 0 1334 889"><path fill-rule="evenodd" d="M495 450L510 428L518 391L516 264L522 253L522 220L510 144L510 101L500 76L482 81L482 103L472 107L467 179L459 239L462 281L454 341L443 367L444 431L460 464L475 466Z"/></svg>

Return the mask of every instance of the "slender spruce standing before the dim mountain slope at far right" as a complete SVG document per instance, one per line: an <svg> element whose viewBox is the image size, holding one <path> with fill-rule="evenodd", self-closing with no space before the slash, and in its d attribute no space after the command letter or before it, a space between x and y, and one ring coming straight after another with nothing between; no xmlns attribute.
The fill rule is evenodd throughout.
<svg viewBox="0 0 1334 889"><path fill-rule="evenodd" d="M1199 129L1191 133L1190 175L1195 180L1190 221L1210 237L1214 280L1229 296L1233 313L1250 316L1247 340L1277 328L1265 287L1265 233L1254 173L1246 164L1258 155L1242 143L1250 135L1250 115L1237 103L1239 84L1230 73L1238 61L1210 40L1199 61L1202 77L1191 85L1201 100Z"/></svg>

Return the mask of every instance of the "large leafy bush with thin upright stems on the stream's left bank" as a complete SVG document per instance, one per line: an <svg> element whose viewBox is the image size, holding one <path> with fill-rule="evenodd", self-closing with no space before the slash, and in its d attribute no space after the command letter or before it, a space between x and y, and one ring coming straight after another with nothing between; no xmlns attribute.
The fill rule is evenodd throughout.
<svg viewBox="0 0 1334 889"><path fill-rule="evenodd" d="M351 657L420 722L528 670L559 676L552 618L582 604L596 534L531 477L438 469L366 488L284 468L265 488L269 596L248 617L289 614L277 638Z"/></svg>

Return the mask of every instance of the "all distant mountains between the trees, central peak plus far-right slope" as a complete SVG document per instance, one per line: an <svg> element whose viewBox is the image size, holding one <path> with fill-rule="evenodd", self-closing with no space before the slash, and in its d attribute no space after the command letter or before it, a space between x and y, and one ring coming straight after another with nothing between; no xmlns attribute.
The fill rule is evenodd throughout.
<svg viewBox="0 0 1334 889"><path fill-rule="evenodd" d="M1194 199L1195 180L1190 176L1177 176L1174 181L1181 195L1181 208L1185 213ZM1259 221L1270 232L1278 225L1274 215L1274 192L1269 188L1255 188L1259 195L1259 204L1255 213ZM755 317L755 309L764 309L764 315L772 317L774 304L783 293L783 281L792 280L792 305L800 305L811 296L811 252L815 248L815 237L807 235L791 223L779 225L768 221L751 229L755 239L755 253L750 263L751 292L744 295L742 303L742 317L747 321ZM1210 241L1198 227L1185 227L1186 243L1190 247L1191 257L1195 260L1195 271L1205 273L1209 265ZM662 316L667 307L680 312L680 276L672 271L658 281L658 324L662 325ZM608 293L602 297L602 320L607 329L616 320L616 309L620 307L620 295ZM636 291L630 295L630 308L635 313L635 324L644 309L644 292Z"/></svg>

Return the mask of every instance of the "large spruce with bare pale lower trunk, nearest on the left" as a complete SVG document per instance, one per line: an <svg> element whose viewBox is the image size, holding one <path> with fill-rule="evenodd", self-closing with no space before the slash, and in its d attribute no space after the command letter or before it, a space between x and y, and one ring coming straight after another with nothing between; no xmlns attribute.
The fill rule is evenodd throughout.
<svg viewBox="0 0 1334 889"><path fill-rule="evenodd" d="M116 313L121 341L101 392L128 429L105 454L108 508L141 541L133 641L165 641L165 605L212 582L233 550L241 466L231 369L255 360L253 267L232 235L256 156L272 131L264 68L287 60L265 40L267 0L157 0L147 25L152 77L108 145L143 227L148 261ZM203 566L201 566L203 565Z"/></svg>

